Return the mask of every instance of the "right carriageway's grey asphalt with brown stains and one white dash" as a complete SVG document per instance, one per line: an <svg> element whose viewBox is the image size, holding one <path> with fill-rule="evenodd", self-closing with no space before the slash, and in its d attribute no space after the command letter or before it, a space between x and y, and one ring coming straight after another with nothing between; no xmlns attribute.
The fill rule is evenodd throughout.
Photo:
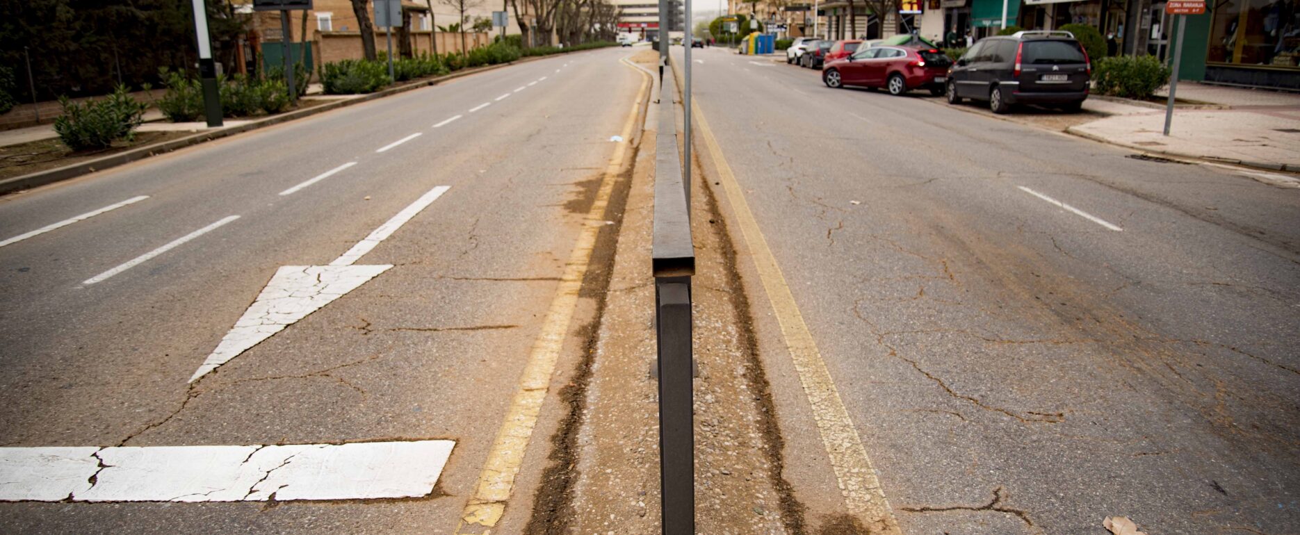
<svg viewBox="0 0 1300 535"><path fill-rule="evenodd" d="M1300 191L694 57L696 101L904 532L1296 531ZM824 526L835 479L742 274L786 477Z"/></svg>

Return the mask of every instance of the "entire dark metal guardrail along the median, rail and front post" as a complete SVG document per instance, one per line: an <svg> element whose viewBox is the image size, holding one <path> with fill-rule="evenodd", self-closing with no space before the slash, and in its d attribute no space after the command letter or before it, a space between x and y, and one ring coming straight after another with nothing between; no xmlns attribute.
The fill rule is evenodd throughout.
<svg viewBox="0 0 1300 535"><path fill-rule="evenodd" d="M682 157L677 152L676 87L671 69L660 73L651 242L659 349L660 510L664 535L693 535L696 444L690 277L696 274L696 248L690 238L689 174L684 174ZM690 143L689 130L685 143Z"/></svg>

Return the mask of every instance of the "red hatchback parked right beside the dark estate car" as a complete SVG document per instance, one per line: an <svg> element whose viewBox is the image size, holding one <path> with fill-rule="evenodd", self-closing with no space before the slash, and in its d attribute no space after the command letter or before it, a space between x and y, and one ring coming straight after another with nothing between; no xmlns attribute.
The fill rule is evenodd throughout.
<svg viewBox="0 0 1300 535"><path fill-rule="evenodd" d="M936 48L871 47L858 48L849 57L829 61L822 68L827 87L884 87L890 95L928 88L931 95L944 93L952 60Z"/></svg>

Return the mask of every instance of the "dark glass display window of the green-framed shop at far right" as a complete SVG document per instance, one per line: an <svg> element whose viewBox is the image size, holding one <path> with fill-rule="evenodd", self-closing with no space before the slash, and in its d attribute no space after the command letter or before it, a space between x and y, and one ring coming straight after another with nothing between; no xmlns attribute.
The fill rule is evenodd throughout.
<svg viewBox="0 0 1300 535"><path fill-rule="evenodd" d="M1206 60L1270 68L1300 66L1296 0L1228 0L1214 8Z"/></svg>

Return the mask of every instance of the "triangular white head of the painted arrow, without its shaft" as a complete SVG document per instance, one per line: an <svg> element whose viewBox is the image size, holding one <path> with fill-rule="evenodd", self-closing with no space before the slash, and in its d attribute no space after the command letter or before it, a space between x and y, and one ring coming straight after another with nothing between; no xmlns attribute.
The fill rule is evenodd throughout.
<svg viewBox="0 0 1300 535"><path fill-rule="evenodd" d="M221 338L190 382L229 362L285 327L320 310L344 293L387 271L377 266L281 266L244 310L235 326Z"/></svg>

